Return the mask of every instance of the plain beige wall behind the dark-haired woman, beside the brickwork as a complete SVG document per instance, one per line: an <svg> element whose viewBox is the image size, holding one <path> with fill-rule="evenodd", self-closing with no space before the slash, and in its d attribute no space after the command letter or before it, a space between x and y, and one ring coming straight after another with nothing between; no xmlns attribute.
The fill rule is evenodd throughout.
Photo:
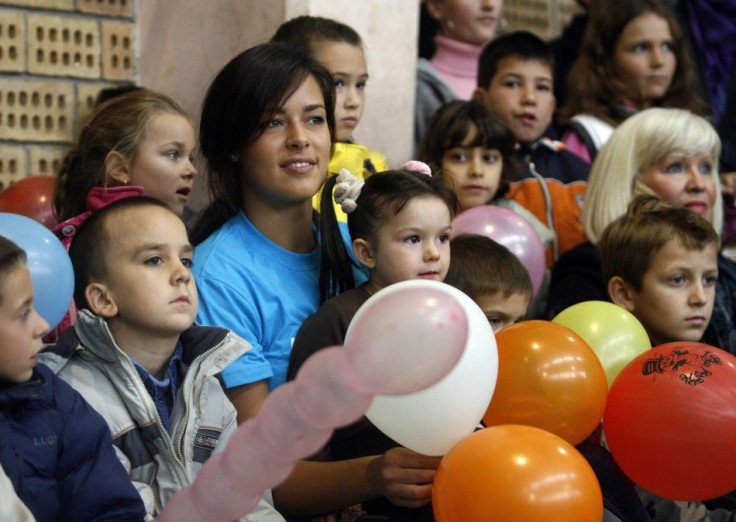
<svg viewBox="0 0 736 522"><path fill-rule="evenodd" d="M172 95L198 120L207 86L235 54L268 40L294 16L335 18L365 42L370 81L356 138L399 166L411 153L418 5L419 0L139 0L138 81ZM203 203L200 186L195 208Z"/></svg>

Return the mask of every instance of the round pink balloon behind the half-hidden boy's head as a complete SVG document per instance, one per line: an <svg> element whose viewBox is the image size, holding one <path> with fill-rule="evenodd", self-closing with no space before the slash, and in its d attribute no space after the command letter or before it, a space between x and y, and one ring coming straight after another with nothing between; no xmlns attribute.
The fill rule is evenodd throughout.
<svg viewBox="0 0 736 522"><path fill-rule="evenodd" d="M519 258L532 279L534 293L544 281L546 254L539 234L529 221L498 205L481 205L461 212L452 220L451 237L478 234L501 243Z"/></svg>

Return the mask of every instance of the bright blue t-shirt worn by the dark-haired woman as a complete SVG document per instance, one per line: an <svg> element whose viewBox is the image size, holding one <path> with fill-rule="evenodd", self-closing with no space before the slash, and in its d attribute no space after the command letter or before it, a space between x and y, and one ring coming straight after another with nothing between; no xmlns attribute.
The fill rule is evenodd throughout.
<svg viewBox="0 0 736 522"><path fill-rule="evenodd" d="M346 227L341 232L347 237ZM284 383L294 337L319 307L319 264L319 248L308 254L281 248L242 211L197 246L197 322L229 328L253 345L221 373L227 388L265 379L273 390Z"/></svg>

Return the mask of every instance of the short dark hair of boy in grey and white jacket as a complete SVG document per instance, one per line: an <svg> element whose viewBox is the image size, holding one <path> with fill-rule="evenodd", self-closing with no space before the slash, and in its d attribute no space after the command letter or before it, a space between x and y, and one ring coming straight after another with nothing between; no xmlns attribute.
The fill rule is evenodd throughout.
<svg viewBox="0 0 736 522"><path fill-rule="evenodd" d="M115 239L110 236L106 226L109 219L124 210L149 206L171 211L158 199L134 196L119 199L93 212L79 227L69 247L69 257L74 268L74 303L79 310L88 308L84 295L87 285L108 276L106 256L110 242ZM173 211L171 213L176 216Z"/></svg>

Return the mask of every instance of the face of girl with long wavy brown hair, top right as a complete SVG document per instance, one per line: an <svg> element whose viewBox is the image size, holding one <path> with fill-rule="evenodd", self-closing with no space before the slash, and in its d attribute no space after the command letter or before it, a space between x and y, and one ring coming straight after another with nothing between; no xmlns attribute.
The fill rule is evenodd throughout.
<svg viewBox="0 0 736 522"><path fill-rule="evenodd" d="M645 109L664 96L677 68L667 20L644 13L621 32L614 50L614 69L631 101Z"/></svg>

